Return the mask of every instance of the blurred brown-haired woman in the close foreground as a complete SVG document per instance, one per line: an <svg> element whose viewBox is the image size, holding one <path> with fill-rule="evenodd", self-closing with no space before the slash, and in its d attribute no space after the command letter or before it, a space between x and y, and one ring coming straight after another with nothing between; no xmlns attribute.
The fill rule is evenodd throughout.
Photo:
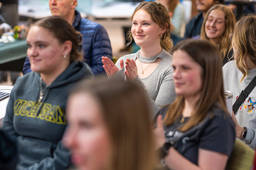
<svg viewBox="0 0 256 170"><path fill-rule="evenodd" d="M79 170L151 170L154 139L144 91L121 80L82 82L68 99L64 145Z"/></svg>

